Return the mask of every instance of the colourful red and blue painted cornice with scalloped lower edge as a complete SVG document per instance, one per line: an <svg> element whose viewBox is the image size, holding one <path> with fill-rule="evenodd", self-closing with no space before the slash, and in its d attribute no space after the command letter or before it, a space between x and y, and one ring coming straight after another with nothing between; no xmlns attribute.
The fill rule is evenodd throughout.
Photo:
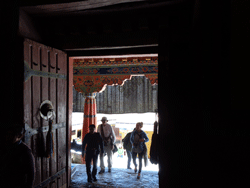
<svg viewBox="0 0 250 188"><path fill-rule="evenodd" d="M158 57L74 59L73 65L73 83L80 93L123 85L133 75L145 75L152 85L158 84Z"/></svg>

